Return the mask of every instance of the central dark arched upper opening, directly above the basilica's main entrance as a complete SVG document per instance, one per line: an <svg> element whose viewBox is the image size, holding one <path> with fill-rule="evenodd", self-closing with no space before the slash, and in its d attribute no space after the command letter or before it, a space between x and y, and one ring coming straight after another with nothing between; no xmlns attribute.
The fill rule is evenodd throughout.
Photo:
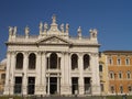
<svg viewBox="0 0 132 99"><path fill-rule="evenodd" d="M50 56L50 68L57 68L57 54L52 53Z"/></svg>

